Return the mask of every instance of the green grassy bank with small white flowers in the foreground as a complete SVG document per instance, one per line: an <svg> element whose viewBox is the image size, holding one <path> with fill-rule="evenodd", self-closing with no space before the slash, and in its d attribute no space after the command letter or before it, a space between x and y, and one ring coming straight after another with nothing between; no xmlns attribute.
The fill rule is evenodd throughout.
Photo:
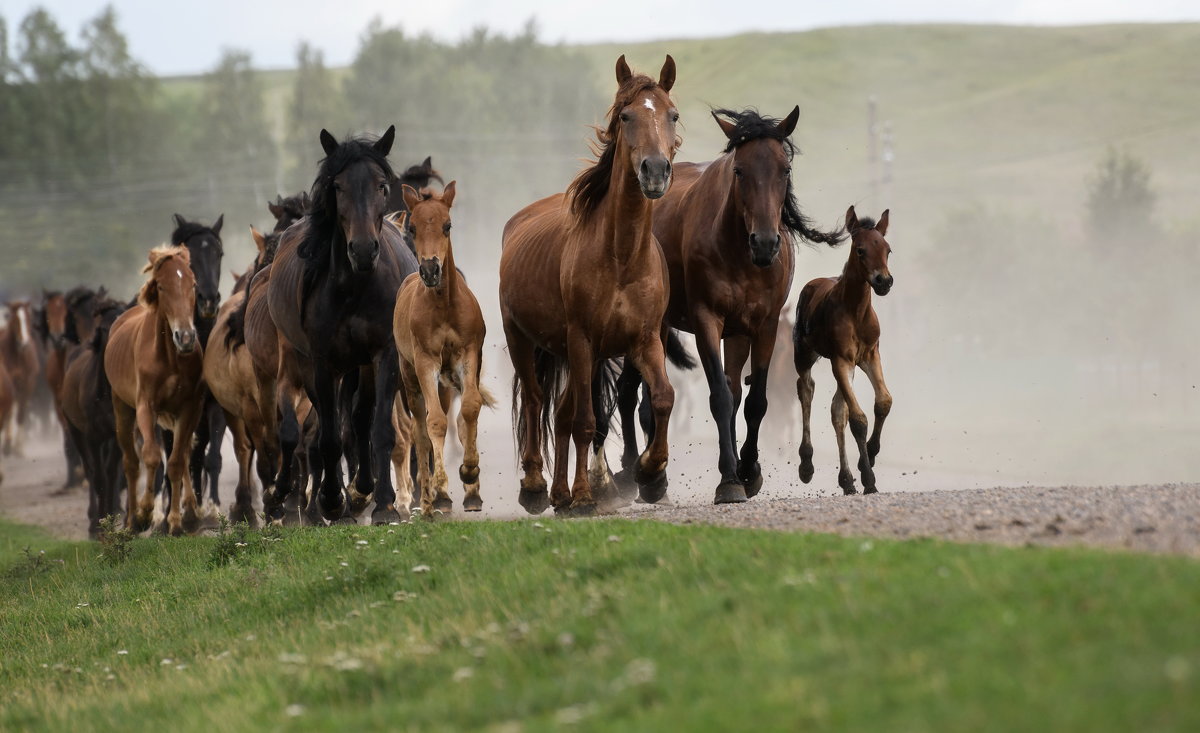
<svg viewBox="0 0 1200 733"><path fill-rule="evenodd" d="M1193 560L540 524L138 540L118 565L5 524L0 729L1200 726ZM30 543L64 564L30 571Z"/></svg>

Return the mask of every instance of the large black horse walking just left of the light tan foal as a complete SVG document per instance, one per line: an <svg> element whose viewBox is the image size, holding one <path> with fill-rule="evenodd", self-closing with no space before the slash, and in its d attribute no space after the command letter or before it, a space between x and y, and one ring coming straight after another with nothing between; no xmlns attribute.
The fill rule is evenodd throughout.
<svg viewBox="0 0 1200 733"><path fill-rule="evenodd" d="M271 265L268 306L283 348L317 411L318 503L329 521L354 521L374 498L373 523L398 522L391 485L392 403L398 364L391 316L396 292L416 259L395 223L384 218L395 178L391 126L377 140L341 143L320 131L325 158L307 216L283 233ZM353 408L358 474L343 487L338 381L356 379ZM284 425L281 422L281 441ZM284 461L286 463L286 461ZM263 498L282 516L289 486Z"/></svg>

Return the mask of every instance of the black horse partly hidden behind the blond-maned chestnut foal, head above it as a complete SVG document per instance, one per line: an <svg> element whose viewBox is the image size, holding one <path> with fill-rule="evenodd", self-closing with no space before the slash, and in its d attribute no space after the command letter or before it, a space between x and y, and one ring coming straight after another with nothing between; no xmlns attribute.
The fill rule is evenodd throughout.
<svg viewBox="0 0 1200 733"><path fill-rule="evenodd" d="M175 229L170 233L170 242L187 247L192 262L192 275L196 276L196 330L200 338L200 348L209 347L209 336L216 322L217 308L221 306L221 259L224 257L224 245L221 241L221 228L224 214L217 216L211 226L202 224L174 215ZM190 461L192 486L204 499L205 513L211 519L221 504L218 482L221 479L221 443L224 438L226 421L221 405L211 397L204 401L200 423L196 428L196 445ZM172 449L172 437L166 437L167 450ZM208 495L205 495L208 483Z"/></svg>

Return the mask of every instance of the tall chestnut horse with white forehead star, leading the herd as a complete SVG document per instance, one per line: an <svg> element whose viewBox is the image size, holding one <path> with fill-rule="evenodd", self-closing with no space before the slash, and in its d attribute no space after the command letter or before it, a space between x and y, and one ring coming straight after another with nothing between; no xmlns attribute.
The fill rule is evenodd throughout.
<svg viewBox="0 0 1200 733"><path fill-rule="evenodd" d="M625 56L618 59L616 100L607 127L598 131L599 160L565 194L526 206L504 227L500 312L516 372L512 409L524 471L520 501L530 513L551 503L556 511L595 511L588 476L596 426L593 380L614 380L602 365L618 356L646 375L654 409L654 439L637 462L638 488L647 500L666 492L674 391L662 347L667 272L650 230L650 208L671 186L679 144L679 113L670 96L674 78L671 56L658 83L635 76ZM564 371L570 383L554 417L554 476L547 500L541 443ZM576 449L570 491L568 433ZM608 473L602 449L595 462L598 474Z"/></svg>

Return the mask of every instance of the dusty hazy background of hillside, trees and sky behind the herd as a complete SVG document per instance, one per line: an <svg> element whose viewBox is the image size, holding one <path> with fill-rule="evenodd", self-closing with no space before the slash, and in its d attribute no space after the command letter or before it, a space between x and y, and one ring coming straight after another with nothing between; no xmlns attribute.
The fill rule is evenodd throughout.
<svg viewBox="0 0 1200 733"><path fill-rule="evenodd" d="M274 224L266 202L312 184L323 127L395 124L397 170L432 156L458 181L454 244L488 310L488 380L508 393L504 221L583 166L616 58L655 74L670 53L678 160L720 152L710 107L799 104L802 208L826 227L850 204L892 211L881 489L1196 479L1193 4L426 5L0 2L0 294L132 295L175 212L223 214L226 270L241 271L248 227ZM791 302L846 256L802 246ZM832 378L815 375L827 493ZM692 473L673 492L710 497L703 379L674 384ZM764 494L798 488L793 385L775 369ZM508 420L485 425L505 494Z"/></svg>

